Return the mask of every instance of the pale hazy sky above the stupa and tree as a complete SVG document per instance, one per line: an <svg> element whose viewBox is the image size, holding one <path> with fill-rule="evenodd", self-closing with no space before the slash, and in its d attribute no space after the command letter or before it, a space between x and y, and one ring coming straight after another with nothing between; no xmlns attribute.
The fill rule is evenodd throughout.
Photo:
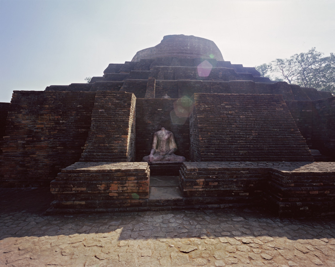
<svg viewBox="0 0 335 267"><path fill-rule="evenodd" d="M0 0L0 102L85 83L169 34L212 40L247 67L312 47L329 55L334 14L333 0Z"/></svg>

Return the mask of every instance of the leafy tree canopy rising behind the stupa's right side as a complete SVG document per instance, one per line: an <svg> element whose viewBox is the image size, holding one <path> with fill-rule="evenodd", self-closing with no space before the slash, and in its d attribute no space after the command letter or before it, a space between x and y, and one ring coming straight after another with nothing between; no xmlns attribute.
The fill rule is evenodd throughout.
<svg viewBox="0 0 335 267"><path fill-rule="evenodd" d="M285 81L335 93L335 55L330 53L325 57L324 53L316 51L315 47L306 53L261 64L256 66L256 70L273 81Z"/></svg>

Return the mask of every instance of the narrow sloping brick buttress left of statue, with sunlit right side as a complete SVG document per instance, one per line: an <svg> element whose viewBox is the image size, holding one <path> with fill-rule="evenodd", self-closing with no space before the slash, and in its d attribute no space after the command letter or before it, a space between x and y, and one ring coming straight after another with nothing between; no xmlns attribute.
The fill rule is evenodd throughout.
<svg viewBox="0 0 335 267"><path fill-rule="evenodd" d="M134 161L135 103L131 93L98 91L80 161Z"/></svg>

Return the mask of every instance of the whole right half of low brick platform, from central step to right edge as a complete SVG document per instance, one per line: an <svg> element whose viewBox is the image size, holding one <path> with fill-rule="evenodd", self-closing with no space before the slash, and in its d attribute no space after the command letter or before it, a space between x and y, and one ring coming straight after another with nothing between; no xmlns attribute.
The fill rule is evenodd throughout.
<svg viewBox="0 0 335 267"><path fill-rule="evenodd" d="M185 199L220 207L262 203L280 217L335 214L333 162L184 162Z"/></svg>

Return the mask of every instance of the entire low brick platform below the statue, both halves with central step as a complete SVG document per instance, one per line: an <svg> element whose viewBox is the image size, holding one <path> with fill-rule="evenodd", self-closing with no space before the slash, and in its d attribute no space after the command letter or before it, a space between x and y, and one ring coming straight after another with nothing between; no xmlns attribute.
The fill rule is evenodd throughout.
<svg viewBox="0 0 335 267"><path fill-rule="evenodd" d="M145 162L77 162L51 182L50 213L265 206L280 217L335 214L333 162L184 162L152 176ZM179 190L178 190L179 187Z"/></svg>

